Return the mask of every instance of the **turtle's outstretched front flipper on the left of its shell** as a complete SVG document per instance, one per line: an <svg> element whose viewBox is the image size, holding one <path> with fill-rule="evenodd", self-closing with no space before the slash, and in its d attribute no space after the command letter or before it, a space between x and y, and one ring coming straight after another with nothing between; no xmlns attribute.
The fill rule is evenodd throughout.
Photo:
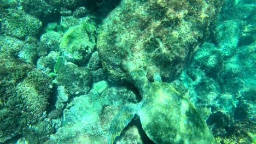
<svg viewBox="0 0 256 144"><path fill-rule="evenodd" d="M135 116L135 113L137 113L137 109L138 106L132 103L121 107L110 124L110 131L108 135L109 144L112 144L115 141L115 137L119 136L126 125L131 122L131 119Z"/></svg>

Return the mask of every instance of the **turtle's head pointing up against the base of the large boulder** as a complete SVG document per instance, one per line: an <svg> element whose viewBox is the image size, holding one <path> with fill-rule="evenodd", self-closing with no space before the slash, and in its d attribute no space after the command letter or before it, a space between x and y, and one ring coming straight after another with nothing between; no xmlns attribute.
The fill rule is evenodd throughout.
<svg viewBox="0 0 256 144"><path fill-rule="evenodd" d="M131 76L132 76L133 83L138 88L141 95L143 95L149 84L146 73L144 73L143 70L135 69L131 71Z"/></svg>

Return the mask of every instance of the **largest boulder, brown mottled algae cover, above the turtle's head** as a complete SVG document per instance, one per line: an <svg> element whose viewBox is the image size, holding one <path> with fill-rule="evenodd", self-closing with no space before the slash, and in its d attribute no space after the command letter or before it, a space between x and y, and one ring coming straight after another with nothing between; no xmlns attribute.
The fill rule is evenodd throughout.
<svg viewBox="0 0 256 144"><path fill-rule="evenodd" d="M97 49L114 80L131 80L133 69L181 74L208 32L223 1L121 1L100 27Z"/></svg>

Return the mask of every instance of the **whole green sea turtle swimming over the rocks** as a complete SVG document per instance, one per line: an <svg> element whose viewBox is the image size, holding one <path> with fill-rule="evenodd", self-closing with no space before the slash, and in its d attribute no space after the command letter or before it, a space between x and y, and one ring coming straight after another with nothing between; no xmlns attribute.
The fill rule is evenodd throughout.
<svg viewBox="0 0 256 144"><path fill-rule="evenodd" d="M131 75L143 100L121 107L110 124L109 144L135 114L149 139L155 143L216 143L206 122L184 97L184 92L159 78L150 83L142 70L133 70Z"/></svg>

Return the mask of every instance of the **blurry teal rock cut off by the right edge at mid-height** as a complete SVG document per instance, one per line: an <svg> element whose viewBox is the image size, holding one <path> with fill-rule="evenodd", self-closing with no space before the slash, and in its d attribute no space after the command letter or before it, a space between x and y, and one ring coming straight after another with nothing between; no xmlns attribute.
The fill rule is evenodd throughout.
<svg viewBox="0 0 256 144"><path fill-rule="evenodd" d="M221 73L223 91L237 95L255 87L255 43L237 47L236 54L226 59Z"/></svg>

